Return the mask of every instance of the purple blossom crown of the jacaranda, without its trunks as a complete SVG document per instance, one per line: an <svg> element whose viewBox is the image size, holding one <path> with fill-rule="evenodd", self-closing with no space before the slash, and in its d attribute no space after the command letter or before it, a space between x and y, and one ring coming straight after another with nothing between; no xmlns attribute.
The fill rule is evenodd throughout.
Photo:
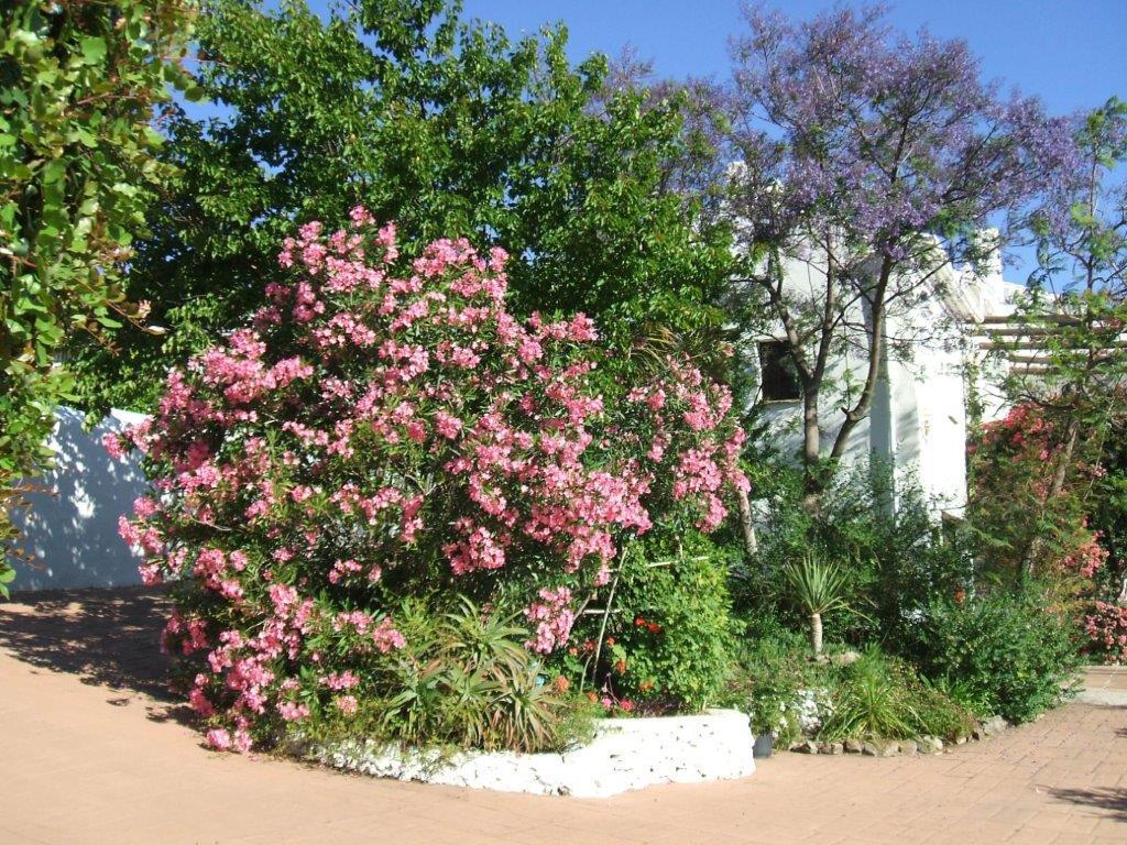
<svg viewBox="0 0 1127 845"><path fill-rule="evenodd" d="M982 81L960 39L896 34L880 7L745 12L731 53L753 238L836 231L898 261L923 231L956 258L1074 161L1068 121Z"/></svg>

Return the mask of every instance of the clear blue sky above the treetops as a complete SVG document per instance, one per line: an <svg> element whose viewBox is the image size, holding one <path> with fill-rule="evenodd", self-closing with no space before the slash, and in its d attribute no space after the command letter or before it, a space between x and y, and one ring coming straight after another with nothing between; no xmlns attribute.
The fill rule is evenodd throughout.
<svg viewBox="0 0 1127 845"><path fill-rule="evenodd" d="M854 5L854 3L849 3ZM774 8L811 17L831 2L784 0ZM1112 94L1127 97L1127 0L902 0L890 23L914 33L965 38L1000 78L1040 96L1057 113L1089 108ZM662 75L726 78L727 42L742 28L738 0L465 0L471 17L512 34L562 21L571 55L616 55L632 44Z"/></svg>

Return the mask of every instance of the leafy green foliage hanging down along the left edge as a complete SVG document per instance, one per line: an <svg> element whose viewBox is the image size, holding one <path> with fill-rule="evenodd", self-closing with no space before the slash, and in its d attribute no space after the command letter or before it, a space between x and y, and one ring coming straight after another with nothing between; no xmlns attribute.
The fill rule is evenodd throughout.
<svg viewBox="0 0 1127 845"><path fill-rule="evenodd" d="M0 544L14 551L17 479L73 376L68 338L140 321L121 281L153 189L169 176L150 126L179 65L188 0L7 2L0 12ZM7 563L0 563L0 569ZM0 589L5 573L0 571Z"/></svg>

